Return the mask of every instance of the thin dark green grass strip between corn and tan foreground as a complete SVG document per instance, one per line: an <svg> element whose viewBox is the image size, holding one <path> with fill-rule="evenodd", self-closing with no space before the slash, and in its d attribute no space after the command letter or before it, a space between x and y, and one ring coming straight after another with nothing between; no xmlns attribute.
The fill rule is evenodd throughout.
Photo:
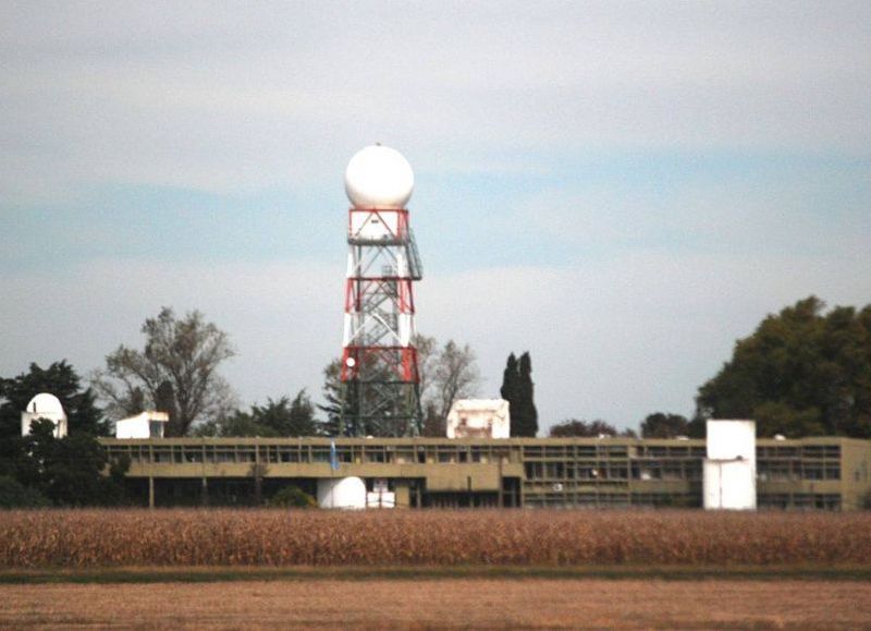
<svg viewBox="0 0 871 631"><path fill-rule="evenodd" d="M0 584L39 583L218 583L229 581L369 580L753 580L871 581L868 567L191 567L0 570Z"/></svg>

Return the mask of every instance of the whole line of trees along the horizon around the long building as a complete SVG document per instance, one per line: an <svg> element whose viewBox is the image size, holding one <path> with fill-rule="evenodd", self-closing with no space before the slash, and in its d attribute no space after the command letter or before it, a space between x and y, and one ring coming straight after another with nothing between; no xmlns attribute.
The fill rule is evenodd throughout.
<svg viewBox="0 0 871 631"><path fill-rule="evenodd" d="M109 463L96 440L110 433L107 416L163 411L170 416L168 436L336 434L342 397L338 360L323 369L321 402L315 403L303 389L242 410L219 374L235 350L229 336L203 314L195 311L176 318L164 307L145 320L142 332L144 348L120 345L87 387L64 361L48 368L32 364L27 373L0 378L0 503L25 488L36 502L118 500L125 464ZM424 434L444 436L452 403L479 392L475 352L453 340L440 344L417 336L415 342ZM508 355L500 392L511 405L512 436L536 436L539 429L528 352ZM66 410L65 438L56 438L39 423L29 436L20 435L21 411L44 391L57 396ZM761 436L871 438L871 305L826 312L821 300L809 296L769 315L750 336L736 341L732 357L699 387L690 418L655 412L639 429L646 438L701 437L712 417L752 418ZM553 425L550 435L635 436L635 432L618 432L602 420L568 418ZM111 475L101 475L109 469Z"/></svg>

